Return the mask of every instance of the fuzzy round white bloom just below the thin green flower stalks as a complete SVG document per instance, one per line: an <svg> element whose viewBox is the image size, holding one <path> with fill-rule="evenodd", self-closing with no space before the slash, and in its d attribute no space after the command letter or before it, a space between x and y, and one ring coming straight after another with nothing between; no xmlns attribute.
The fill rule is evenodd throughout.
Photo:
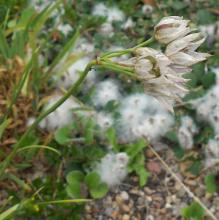
<svg viewBox="0 0 219 220"><path fill-rule="evenodd" d="M96 85L92 103L96 107L103 107L109 101L118 101L121 98L119 85L115 80L105 80Z"/></svg>

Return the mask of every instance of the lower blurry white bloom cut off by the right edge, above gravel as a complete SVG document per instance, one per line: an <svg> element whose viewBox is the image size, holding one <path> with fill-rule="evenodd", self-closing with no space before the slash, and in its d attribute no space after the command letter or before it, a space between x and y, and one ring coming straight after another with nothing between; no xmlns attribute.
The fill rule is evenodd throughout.
<svg viewBox="0 0 219 220"><path fill-rule="evenodd" d="M210 139L205 146L205 167L209 168L219 163L219 140Z"/></svg>

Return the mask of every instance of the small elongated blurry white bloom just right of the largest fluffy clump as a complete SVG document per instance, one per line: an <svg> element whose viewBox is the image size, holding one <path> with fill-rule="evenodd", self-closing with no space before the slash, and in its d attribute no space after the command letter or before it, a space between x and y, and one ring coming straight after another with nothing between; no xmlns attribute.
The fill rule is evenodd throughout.
<svg viewBox="0 0 219 220"><path fill-rule="evenodd" d="M182 148L189 150L193 147L193 136L198 131L193 119L189 116L181 118L181 125L178 129L178 139Z"/></svg>

